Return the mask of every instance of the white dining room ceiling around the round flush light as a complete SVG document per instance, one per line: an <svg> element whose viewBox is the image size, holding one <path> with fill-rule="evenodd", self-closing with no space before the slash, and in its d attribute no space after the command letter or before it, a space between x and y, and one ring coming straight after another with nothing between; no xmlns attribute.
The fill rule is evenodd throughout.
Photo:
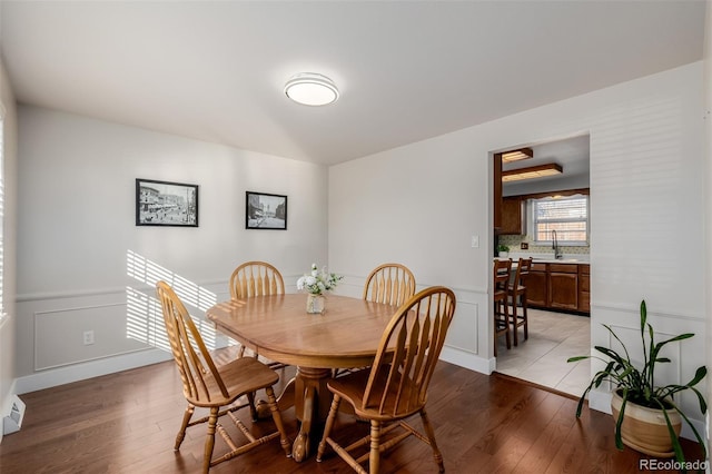
<svg viewBox="0 0 712 474"><path fill-rule="evenodd" d="M2 0L0 48L20 102L337 164L700 60L704 8ZM287 100L303 71L338 102Z"/></svg>

